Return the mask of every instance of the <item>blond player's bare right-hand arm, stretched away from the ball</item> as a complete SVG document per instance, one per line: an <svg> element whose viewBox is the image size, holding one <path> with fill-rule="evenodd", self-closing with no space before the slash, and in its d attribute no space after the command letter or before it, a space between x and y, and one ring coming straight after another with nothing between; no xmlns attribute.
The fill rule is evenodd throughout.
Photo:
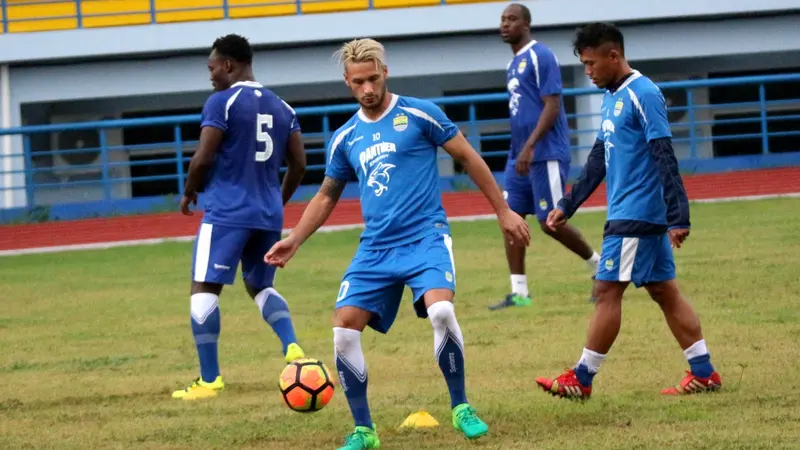
<svg viewBox="0 0 800 450"><path fill-rule="evenodd" d="M527 246L531 240L528 223L508 207L508 204L503 199L503 193L492 175L492 171L486 165L486 161L472 148L464 138L464 135L458 132L452 139L445 142L442 148L459 164L464 166L469 177L483 192L486 199L489 200L500 221L503 233L511 241L521 242Z"/></svg>

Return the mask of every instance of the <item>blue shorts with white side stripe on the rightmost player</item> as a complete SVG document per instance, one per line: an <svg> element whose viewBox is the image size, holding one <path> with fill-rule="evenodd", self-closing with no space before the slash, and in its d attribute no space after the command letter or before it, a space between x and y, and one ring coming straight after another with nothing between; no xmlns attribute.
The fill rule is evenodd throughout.
<svg viewBox="0 0 800 450"><path fill-rule="evenodd" d="M603 281L632 281L642 287L675 279L675 259L669 236L606 236L595 277Z"/></svg>

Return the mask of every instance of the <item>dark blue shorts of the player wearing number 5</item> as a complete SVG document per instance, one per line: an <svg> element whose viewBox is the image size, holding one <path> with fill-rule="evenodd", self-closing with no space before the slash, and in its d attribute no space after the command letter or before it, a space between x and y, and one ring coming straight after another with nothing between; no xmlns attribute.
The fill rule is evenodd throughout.
<svg viewBox="0 0 800 450"><path fill-rule="evenodd" d="M194 241L192 280L233 284L241 261L246 285L258 291L272 287L275 267L264 262L264 255L280 238L279 231L201 223Z"/></svg>

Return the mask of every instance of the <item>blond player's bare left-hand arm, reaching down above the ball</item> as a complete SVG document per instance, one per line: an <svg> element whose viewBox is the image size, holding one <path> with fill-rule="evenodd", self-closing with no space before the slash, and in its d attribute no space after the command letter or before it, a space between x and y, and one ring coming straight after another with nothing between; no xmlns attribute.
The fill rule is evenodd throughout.
<svg viewBox="0 0 800 450"><path fill-rule="evenodd" d="M303 211L297 226L292 229L289 236L277 242L264 255L264 261L267 264L284 267L297 249L328 220L346 186L347 181L326 176L319 191Z"/></svg>

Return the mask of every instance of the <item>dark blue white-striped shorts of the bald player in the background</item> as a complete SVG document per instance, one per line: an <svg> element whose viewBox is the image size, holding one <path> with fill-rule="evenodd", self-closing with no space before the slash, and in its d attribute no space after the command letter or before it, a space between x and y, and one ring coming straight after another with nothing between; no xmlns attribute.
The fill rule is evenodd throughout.
<svg viewBox="0 0 800 450"><path fill-rule="evenodd" d="M508 160L505 170L505 197L509 208L521 216L536 214L539 221L547 219L550 211L564 196L569 163L550 160L532 162L528 175L520 175L516 161Z"/></svg>

